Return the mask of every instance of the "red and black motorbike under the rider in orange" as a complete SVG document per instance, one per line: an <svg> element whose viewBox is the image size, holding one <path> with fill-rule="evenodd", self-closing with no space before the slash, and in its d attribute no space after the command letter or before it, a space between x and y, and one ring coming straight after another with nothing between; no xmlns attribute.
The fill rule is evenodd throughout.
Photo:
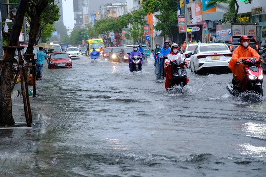
<svg viewBox="0 0 266 177"><path fill-rule="evenodd" d="M255 93L263 96L263 68L261 67L260 59L256 57L241 57L242 62L245 65L244 72L245 77L243 82L237 81L234 77L232 84L226 86L227 90L233 96L239 96L241 93ZM240 64L238 63L238 64Z"/></svg>

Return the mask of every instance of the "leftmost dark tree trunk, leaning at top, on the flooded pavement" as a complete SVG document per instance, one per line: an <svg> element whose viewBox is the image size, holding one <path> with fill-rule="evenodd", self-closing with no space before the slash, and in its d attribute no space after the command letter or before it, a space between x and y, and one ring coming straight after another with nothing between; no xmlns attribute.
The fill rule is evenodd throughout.
<svg viewBox="0 0 266 177"><path fill-rule="evenodd" d="M28 0L20 0L18 10L13 24L11 34L9 37L8 46L19 46L18 38L22 29L24 16ZM14 125L14 118L12 114L12 98L11 98L11 81L12 81L12 66L15 56L15 48L8 48L5 53L5 61L3 63L0 75L0 125Z"/></svg>

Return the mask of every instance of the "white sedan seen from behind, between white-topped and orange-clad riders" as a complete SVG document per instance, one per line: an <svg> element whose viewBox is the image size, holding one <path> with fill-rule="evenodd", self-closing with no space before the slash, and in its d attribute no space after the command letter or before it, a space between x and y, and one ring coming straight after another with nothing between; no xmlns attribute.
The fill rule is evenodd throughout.
<svg viewBox="0 0 266 177"><path fill-rule="evenodd" d="M217 72L218 70L226 70L232 53L226 44L211 43L198 44L190 59L190 70L195 74L199 72L209 71Z"/></svg>

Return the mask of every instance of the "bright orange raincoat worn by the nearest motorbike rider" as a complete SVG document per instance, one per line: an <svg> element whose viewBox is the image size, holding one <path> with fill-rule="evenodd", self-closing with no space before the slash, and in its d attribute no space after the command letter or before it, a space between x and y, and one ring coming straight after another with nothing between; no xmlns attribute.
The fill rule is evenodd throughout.
<svg viewBox="0 0 266 177"><path fill-rule="evenodd" d="M236 49L234 49L232 58L229 62L229 68L231 69L234 76L236 76L237 80L241 81L245 77L245 70L244 64L237 64L236 61L239 60L240 57L257 57L260 58L260 55L257 53L257 51L251 47L243 47L240 45Z"/></svg>

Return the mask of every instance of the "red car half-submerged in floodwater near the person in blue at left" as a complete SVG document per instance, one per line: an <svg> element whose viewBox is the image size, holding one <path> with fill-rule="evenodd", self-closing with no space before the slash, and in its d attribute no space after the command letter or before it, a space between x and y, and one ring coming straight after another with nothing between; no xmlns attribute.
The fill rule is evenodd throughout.
<svg viewBox="0 0 266 177"><path fill-rule="evenodd" d="M72 68L72 59L66 52L53 52L47 58L49 69Z"/></svg>

